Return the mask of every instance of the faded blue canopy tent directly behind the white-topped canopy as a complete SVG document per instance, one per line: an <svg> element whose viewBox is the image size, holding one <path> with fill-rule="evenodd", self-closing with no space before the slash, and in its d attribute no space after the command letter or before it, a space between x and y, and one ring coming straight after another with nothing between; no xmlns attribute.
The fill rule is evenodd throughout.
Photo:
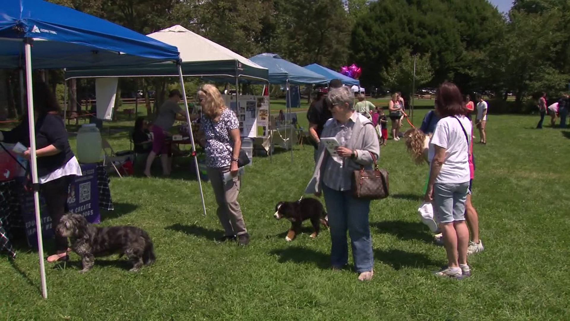
<svg viewBox="0 0 570 321"><path fill-rule="evenodd" d="M291 119L291 91L289 85L320 85L328 83L327 78L304 69L299 65L286 61L278 54L264 53L250 58L251 61L269 70L269 83L274 85L285 85L287 90L287 114L286 118ZM287 132L286 132L287 133ZM287 139L287 136L286 136ZM291 162L293 162L293 149L291 147Z"/></svg>

